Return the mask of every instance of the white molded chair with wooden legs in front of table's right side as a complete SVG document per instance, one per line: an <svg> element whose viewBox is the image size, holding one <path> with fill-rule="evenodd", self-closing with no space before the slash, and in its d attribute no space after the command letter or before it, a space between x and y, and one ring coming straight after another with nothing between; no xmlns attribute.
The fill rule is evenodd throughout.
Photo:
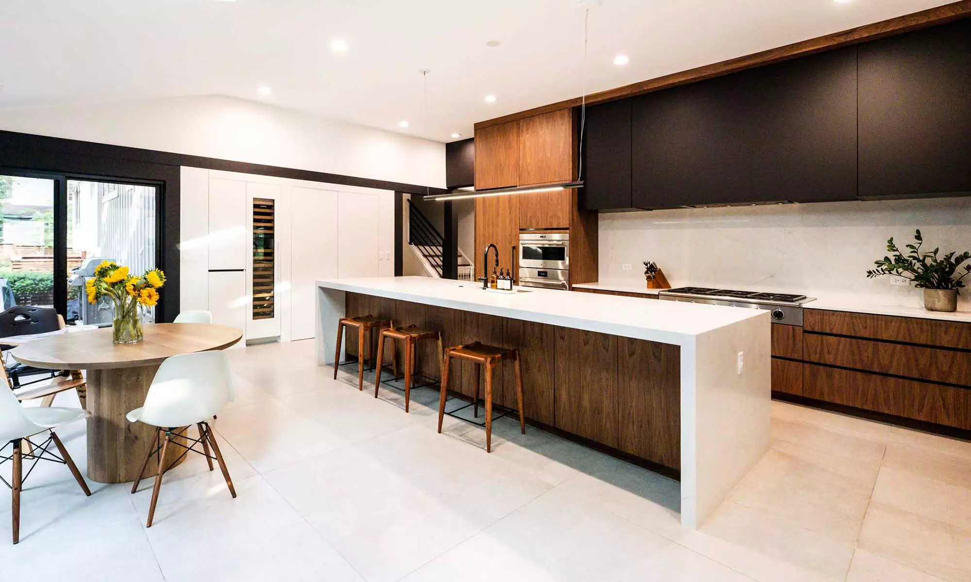
<svg viewBox="0 0 971 582"><path fill-rule="evenodd" d="M219 463L222 476L229 487L229 493L235 498L229 471L222 460L216 436L209 428L207 420L214 417L223 406L232 401L232 388L229 383L229 361L221 351L197 352L172 356L162 362L151 380L149 394L145 397L145 404L135 408L127 414L130 422L144 422L156 428L155 442L149 443L142 461L142 469L131 487L131 492L138 491L138 484L149 466L151 455L158 456L158 472L155 473L155 486L151 493L149 507L149 521L147 528L151 528L151 520L155 515L155 503L158 501L158 491L162 486L162 475L172 466L165 467L165 455L169 444L173 440L185 440L190 444L186 447L177 441L176 446L186 448L183 455L192 451L206 457L209 470L213 470L213 459ZM189 427L195 425L199 430L199 438L190 438L185 433ZM202 451L196 450L196 444L202 444ZM215 457L210 453L215 453ZM182 457L179 457L180 459ZM174 464L174 463L173 463Z"/></svg>

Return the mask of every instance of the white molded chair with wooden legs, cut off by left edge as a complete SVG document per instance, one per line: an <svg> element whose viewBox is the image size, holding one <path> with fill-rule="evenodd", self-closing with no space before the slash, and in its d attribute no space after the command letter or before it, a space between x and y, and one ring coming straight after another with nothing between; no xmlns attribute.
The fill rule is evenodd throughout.
<svg viewBox="0 0 971 582"><path fill-rule="evenodd" d="M31 468L27 469L27 474L30 474L33 466L41 460L67 465L68 469L71 469L71 474L74 475L74 478L81 485L82 490L84 490L84 495L91 495L91 490L87 488L87 483L84 482L81 471L78 470L78 467L71 459L71 455L64 448L64 443L60 441L60 438L53 431L57 426L81 420L87 416L88 412L83 408L61 408L56 406L24 408L17 401L17 396L12 391L8 390L6 386L0 385L0 442L4 443L3 448L0 448L0 465L7 461L14 462L13 482L7 483L4 481L11 488L13 497L12 517L14 543L20 541L20 490L23 487L23 479L25 478L23 473L24 459L33 460ZM43 442L38 443L30 440L30 436L42 433L50 433ZM60 452L60 457L49 450L51 442L57 447L57 450ZM25 443L31 446L31 450L28 453L22 451ZM7 456L5 451L11 445L13 445L14 451L10 456Z"/></svg>

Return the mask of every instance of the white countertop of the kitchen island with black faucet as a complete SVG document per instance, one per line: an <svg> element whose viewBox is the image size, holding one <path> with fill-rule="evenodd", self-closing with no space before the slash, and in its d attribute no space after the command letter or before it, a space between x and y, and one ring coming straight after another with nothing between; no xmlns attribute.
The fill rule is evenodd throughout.
<svg viewBox="0 0 971 582"><path fill-rule="evenodd" d="M768 311L762 309L646 302L636 297L536 288L502 294L484 291L470 281L424 276L323 279L317 284L325 289L679 345L756 317L770 323Z"/></svg>

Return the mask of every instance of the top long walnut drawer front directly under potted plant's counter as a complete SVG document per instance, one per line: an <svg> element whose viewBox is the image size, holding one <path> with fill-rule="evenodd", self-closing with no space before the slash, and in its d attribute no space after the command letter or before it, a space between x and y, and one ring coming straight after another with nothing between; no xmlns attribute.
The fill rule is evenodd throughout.
<svg viewBox="0 0 971 582"><path fill-rule="evenodd" d="M971 349L971 323L823 309L803 310L802 322L807 332Z"/></svg>

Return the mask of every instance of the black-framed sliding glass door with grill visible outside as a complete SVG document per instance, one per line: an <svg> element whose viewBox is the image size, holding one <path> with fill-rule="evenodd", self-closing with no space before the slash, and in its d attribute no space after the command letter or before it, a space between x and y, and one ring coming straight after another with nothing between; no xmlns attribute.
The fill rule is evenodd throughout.
<svg viewBox="0 0 971 582"><path fill-rule="evenodd" d="M55 307L69 324L110 325L111 303L88 305L84 280L104 260L132 274L158 265L158 198L150 183L0 175L3 308Z"/></svg>

